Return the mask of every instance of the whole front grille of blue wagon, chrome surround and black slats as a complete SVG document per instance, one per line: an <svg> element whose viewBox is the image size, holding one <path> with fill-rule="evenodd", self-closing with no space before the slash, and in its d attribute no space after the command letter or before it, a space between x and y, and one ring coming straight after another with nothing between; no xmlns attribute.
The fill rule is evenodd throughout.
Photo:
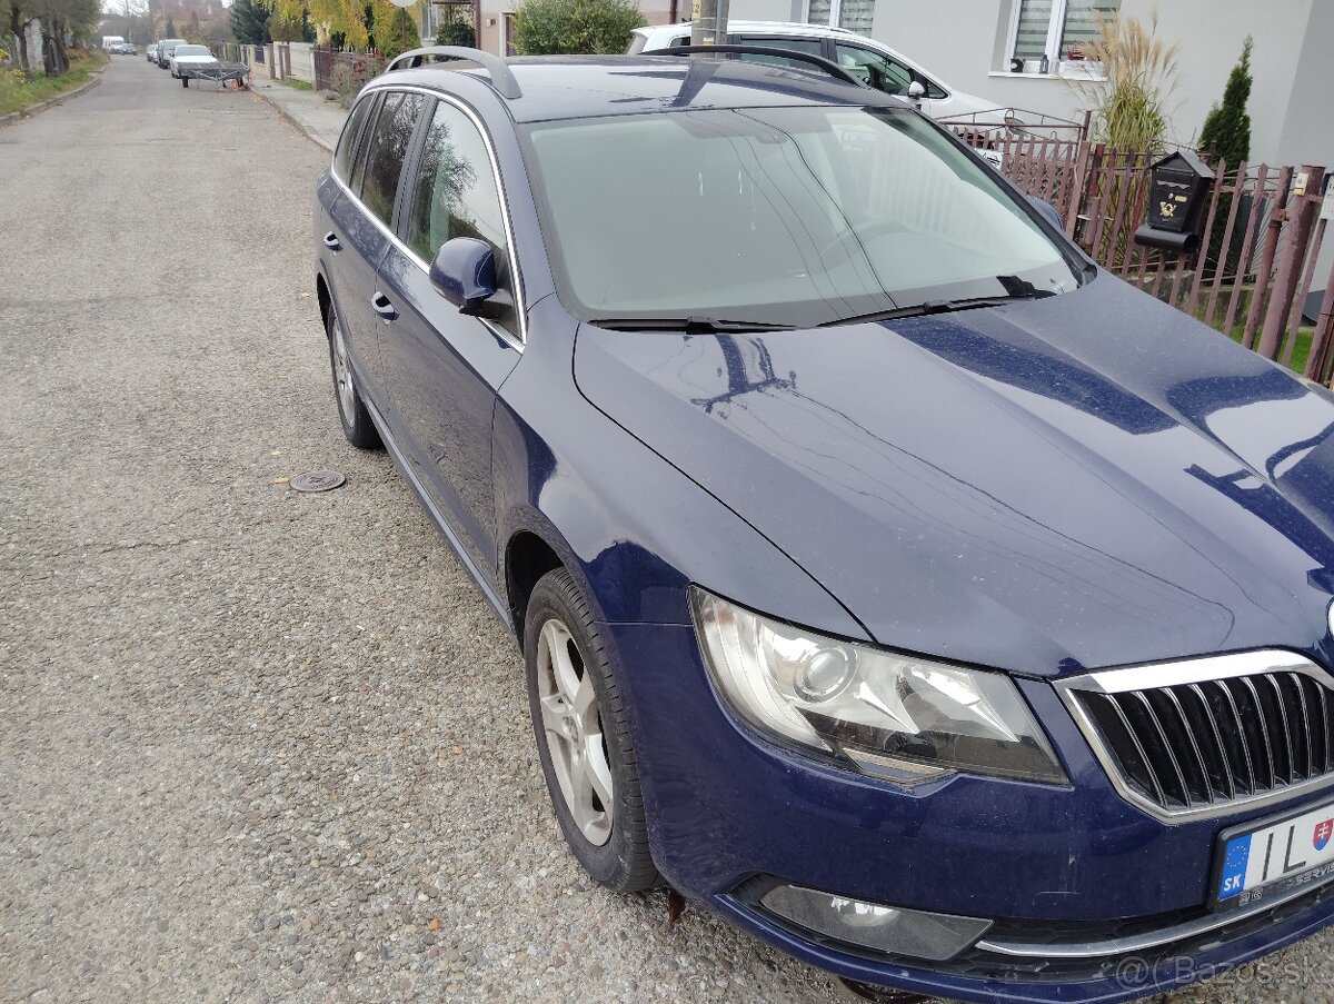
<svg viewBox="0 0 1334 1004"><path fill-rule="evenodd" d="M1117 788L1158 816L1334 782L1334 678L1301 656L1109 670L1058 689Z"/></svg>

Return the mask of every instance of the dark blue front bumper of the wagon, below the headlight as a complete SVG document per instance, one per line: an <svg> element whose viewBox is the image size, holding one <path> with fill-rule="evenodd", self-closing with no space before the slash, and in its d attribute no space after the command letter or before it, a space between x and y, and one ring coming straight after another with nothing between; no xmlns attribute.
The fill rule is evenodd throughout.
<svg viewBox="0 0 1334 1004"><path fill-rule="evenodd" d="M1218 832L1274 808L1177 824L1150 817L1114 790L1046 682L1018 681L1070 786L960 774L906 789L794 756L739 726L714 697L692 628L603 630L628 697L664 877L814 965L964 1000L1111 1001L1202 979L1334 923L1326 887L1199 931L1213 923L1205 904ZM775 880L990 919L983 944L1051 952L974 947L931 964L874 957L767 913L755 891ZM1142 947L1175 931L1182 936Z"/></svg>

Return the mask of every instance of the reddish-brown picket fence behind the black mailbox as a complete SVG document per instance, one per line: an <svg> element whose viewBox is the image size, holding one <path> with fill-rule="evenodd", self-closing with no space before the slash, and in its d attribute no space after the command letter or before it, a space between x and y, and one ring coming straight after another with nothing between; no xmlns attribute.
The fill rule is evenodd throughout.
<svg viewBox="0 0 1334 1004"><path fill-rule="evenodd" d="M1066 232L1103 268L1191 314L1269 359L1330 385L1334 378L1334 268L1321 250L1334 216L1319 164L1214 164L1199 240L1189 252L1143 247L1150 154L1110 151L1057 128L983 130L947 123L1026 194L1057 207ZM1322 304L1307 308L1325 279Z"/></svg>

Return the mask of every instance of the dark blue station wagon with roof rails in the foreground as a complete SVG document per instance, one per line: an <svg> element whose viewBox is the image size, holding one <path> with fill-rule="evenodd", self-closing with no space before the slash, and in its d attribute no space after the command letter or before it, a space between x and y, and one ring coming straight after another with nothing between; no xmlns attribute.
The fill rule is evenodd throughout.
<svg viewBox="0 0 1334 1004"><path fill-rule="evenodd" d="M1334 398L907 101L406 53L313 248L343 431L514 632L598 883L976 1001L1334 923Z"/></svg>

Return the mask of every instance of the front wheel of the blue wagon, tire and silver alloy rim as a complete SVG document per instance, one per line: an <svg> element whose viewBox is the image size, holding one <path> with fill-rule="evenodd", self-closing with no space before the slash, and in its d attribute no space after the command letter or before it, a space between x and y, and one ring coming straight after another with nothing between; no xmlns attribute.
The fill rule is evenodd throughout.
<svg viewBox="0 0 1334 1004"><path fill-rule="evenodd" d="M566 842L600 885L652 888L659 877L624 704L592 611L567 569L548 571L534 587L523 650L538 756Z"/></svg>

